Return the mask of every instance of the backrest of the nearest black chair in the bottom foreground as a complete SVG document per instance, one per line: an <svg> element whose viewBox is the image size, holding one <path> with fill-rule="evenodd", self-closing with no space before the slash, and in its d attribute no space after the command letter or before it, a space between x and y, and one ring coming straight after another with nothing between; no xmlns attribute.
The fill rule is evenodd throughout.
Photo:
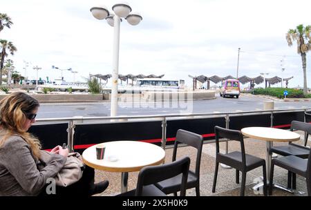
<svg viewBox="0 0 311 210"><path fill-rule="evenodd" d="M142 195L142 189L145 185L156 184L162 180L173 178L182 173L182 181L180 185L180 196L186 195L186 185L188 179L190 158L185 157L174 162L162 164L158 166L146 166L140 170L135 191L135 196Z"/></svg>

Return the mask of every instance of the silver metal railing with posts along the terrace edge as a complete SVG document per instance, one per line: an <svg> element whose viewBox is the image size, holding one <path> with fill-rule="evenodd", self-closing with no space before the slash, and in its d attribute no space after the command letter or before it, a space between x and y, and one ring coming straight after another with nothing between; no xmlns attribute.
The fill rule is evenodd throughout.
<svg viewBox="0 0 311 210"><path fill-rule="evenodd" d="M124 120L147 120L158 119L162 121L162 140L161 146L165 149L167 144L167 120L173 119L207 119L212 117L225 117L225 127L229 128L230 117L244 116L244 115L262 115L262 114L271 114L270 126L273 126L274 113L292 113L292 112L301 112L309 111L311 108L294 108L294 109L278 109L278 110L263 110L263 111L241 111L241 112L225 112L225 113L196 113L196 114L180 114L180 115L135 115L135 116L119 116L119 117L61 117L61 118L46 118L46 119L37 119L36 124L49 124L50 122L68 122L68 149L73 151L73 137L75 133L75 125L84 124L86 122L100 122L104 120L111 120L109 123L124 122ZM107 123L107 122L103 122ZM226 141L226 153L228 152L228 143Z"/></svg>

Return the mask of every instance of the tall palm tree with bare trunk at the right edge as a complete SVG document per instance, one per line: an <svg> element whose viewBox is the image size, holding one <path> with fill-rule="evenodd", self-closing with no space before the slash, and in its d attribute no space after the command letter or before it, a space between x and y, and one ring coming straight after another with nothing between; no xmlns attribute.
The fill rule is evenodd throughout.
<svg viewBox="0 0 311 210"><path fill-rule="evenodd" d="M288 41L288 46L292 46L292 41L297 41L297 53L301 55L301 60L303 64L303 94L308 94L307 86L307 59L305 57L306 53L311 50L311 25L303 26L303 24L296 26L296 29L288 30L286 34L286 40Z"/></svg>

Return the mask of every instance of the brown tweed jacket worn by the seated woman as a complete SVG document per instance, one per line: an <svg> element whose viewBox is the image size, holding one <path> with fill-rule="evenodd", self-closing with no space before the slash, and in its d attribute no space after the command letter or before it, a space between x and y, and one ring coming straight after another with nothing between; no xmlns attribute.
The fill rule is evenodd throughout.
<svg viewBox="0 0 311 210"><path fill-rule="evenodd" d="M2 136L0 136L0 139ZM66 158L53 154L43 169L30 146L18 135L12 135L0 147L0 196L38 195L48 178L54 178L64 166Z"/></svg>

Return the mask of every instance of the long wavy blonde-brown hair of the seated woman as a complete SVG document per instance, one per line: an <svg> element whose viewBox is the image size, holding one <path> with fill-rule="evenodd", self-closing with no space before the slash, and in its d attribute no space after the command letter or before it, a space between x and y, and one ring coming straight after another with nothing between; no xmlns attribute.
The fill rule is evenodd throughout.
<svg viewBox="0 0 311 210"><path fill-rule="evenodd" d="M23 128L27 119L26 113L31 113L37 107L39 107L37 99L21 92L12 93L0 101L0 131L3 135L0 147L10 136L19 135L30 146L35 158L40 157L39 140Z"/></svg>

